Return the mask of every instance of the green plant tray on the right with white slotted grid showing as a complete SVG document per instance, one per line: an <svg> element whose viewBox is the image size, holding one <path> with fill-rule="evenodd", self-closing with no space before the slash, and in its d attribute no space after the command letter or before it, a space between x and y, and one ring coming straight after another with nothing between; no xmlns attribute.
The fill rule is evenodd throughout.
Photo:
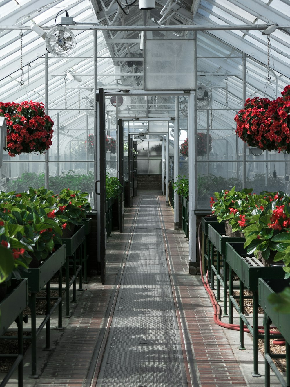
<svg viewBox="0 0 290 387"><path fill-rule="evenodd" d="M247 289L258 291L258 279L261 277L285 276L283 267L265 267L254 255L247 254L243 246L244 243L227 243L225 260Z"/></svg>

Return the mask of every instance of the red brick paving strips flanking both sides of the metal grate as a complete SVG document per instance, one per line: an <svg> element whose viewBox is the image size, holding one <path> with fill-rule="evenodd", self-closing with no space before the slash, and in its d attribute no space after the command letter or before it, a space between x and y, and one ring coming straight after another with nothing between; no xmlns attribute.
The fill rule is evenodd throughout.
<svg viewBox="0 0 290 387"><path fill-rule="evenodd" d="M106 326L111 318L109 312L114 304L114 295L118 292L115 282L118 281L122 262L126 257L137 200L138 197L135 198L133 208L125 211L124 233L115 232L108 240L107 284L102 286L99 277L90 277L89 283L84 284L85 291L77 292L77 305L72 317L63 331L55 330L52 336L55 348L45 355L41 354L45 358L43 364L39 361L40 378L37 380L29 378L29 353L27 354L25 387L90 387L92 380L92 385L95 384L94 370L98 370L100 366L98 353L104 348L102 338L108 333ZM165 206L165 197L159 196L159 200L166 229L164 238L168 242L169 270L172 283L176 285L173 294L179 317L188 385L262 386L263 378L248 378L245 381L225 330L213 322L213 309L200 277L189 275L188 241L183 232L174 230L173 214L171 208ZM238 335L238 332L235 333ZM237 344L238 342L235 343L236 347ZM187 358L185 349L188 349ZM40 344L39 353L41 352ZM249 364L251 365L251 361ZM17 383L14 380L8 386L17 387Z"/></svg>

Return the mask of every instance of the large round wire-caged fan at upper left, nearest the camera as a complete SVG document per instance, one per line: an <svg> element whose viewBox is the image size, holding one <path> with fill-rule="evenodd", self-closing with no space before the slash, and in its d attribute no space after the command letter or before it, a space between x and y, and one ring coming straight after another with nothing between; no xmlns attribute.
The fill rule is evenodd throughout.
<svg viewBox="0 0 290 387"><path fill-rule="evenodd" d="M45 36L46 50L55 57L67 56L76 44L75 35L65 26L54 26Z"/></svg>

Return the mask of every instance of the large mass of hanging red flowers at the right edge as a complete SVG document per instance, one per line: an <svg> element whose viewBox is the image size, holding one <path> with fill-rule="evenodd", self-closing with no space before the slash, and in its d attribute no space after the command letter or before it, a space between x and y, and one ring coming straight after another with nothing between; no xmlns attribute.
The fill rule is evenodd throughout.
<svg viewBox="0 0 290 387"><path fill-rule="evenodd" d="M281 97L248 98L244 109L234 120L237 135L249 146L263 150L290 153L290 86L286 86Z"/></svg>

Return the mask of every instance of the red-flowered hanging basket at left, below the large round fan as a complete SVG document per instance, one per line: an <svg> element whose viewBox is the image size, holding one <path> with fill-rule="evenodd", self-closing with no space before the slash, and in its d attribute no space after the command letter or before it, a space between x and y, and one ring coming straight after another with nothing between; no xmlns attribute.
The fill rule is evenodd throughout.
<svg viewBox="0 0 290 387"><path fill-rule="evenodd" d="M0 102L0 116L7 118L7 144L11 157L21 153L43 154L52 144L53 121L43 103Z"/></svg>

